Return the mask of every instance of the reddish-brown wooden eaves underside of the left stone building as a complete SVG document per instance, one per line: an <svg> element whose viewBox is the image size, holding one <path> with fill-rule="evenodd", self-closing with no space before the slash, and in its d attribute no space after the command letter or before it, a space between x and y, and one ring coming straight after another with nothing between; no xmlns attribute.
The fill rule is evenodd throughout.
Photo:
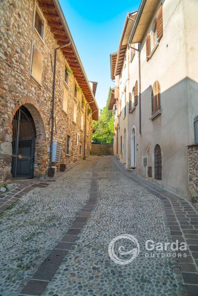
<svg viewBox="0 0 198 296"><path fill-rule="evenodd" d="M54 38L57 40L57 43L61 46L69 42L69 38L64 30L64 26L61 23L61 19L56 11L56 7L53 4L53 0L38 0L39 7L42 9L42 12L47 19L47 23L50 26L51 32L54 34ZM89 87L85 81L82 70L78 64L75 53L72 49L72 46L68 46L66 48L61 49L69 67L72 69L73 74L81 87L83 94L87 100L87 102L93 101L92 94L89 90ZM95 94L94 94L95 95ZM94 102L90 103L90 107L92 112L97 110L97 107ZM98 119L98 112L94 112L93 119Z"/></svg>

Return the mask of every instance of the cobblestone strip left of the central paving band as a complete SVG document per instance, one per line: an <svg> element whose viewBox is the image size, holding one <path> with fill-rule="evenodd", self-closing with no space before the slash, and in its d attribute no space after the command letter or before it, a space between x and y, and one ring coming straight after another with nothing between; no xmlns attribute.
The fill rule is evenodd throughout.
<svg viewBox="0 0 198 296"><path fill-rule="evenodd" d="M60 242L89 197L98 159L83 161L47 188L31 188L0 215L1 296L18 295Z"/></svg>

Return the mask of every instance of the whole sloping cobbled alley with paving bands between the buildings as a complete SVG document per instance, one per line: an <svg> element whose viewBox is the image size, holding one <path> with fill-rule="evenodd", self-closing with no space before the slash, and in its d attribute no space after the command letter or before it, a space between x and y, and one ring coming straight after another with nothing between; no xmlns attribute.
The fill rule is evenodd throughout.
<svg viewBox="0 0 198 296"><path fill-rule="evenodd" d="M48 184L0 215L1 296L198 295L198 215L186 200L114 157L89 157ZM140 244L127 265L108 254L120 234ZM145 258L147 239L185 241L187 257L153 250Z"/></svg>

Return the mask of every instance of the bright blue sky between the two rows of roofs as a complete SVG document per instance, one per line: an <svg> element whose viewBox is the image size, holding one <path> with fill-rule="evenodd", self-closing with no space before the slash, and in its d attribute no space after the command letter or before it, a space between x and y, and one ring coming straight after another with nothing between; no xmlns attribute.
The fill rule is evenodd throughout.
<svg viewBox="0 0 198 296"><path fill-rule="evenodd" d="M140 0L59 0L88 80L98 81L96 100L106 105L110 78L110 53L118 43L127 12L138 9Z"/></svg>

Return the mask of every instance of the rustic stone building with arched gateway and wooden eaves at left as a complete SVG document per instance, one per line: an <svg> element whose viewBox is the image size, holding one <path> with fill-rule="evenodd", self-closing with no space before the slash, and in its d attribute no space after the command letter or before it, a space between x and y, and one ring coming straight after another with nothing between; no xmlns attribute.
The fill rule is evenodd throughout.
<svg viewBox="0 0 198 296"><path fill-rule="evenodd" d="M50 156L57 169L88 156L97 83L87 79L58 0L1 1L0 34L0 182L47 176ZM53 112L55 49L63 45Z"/></svg>

